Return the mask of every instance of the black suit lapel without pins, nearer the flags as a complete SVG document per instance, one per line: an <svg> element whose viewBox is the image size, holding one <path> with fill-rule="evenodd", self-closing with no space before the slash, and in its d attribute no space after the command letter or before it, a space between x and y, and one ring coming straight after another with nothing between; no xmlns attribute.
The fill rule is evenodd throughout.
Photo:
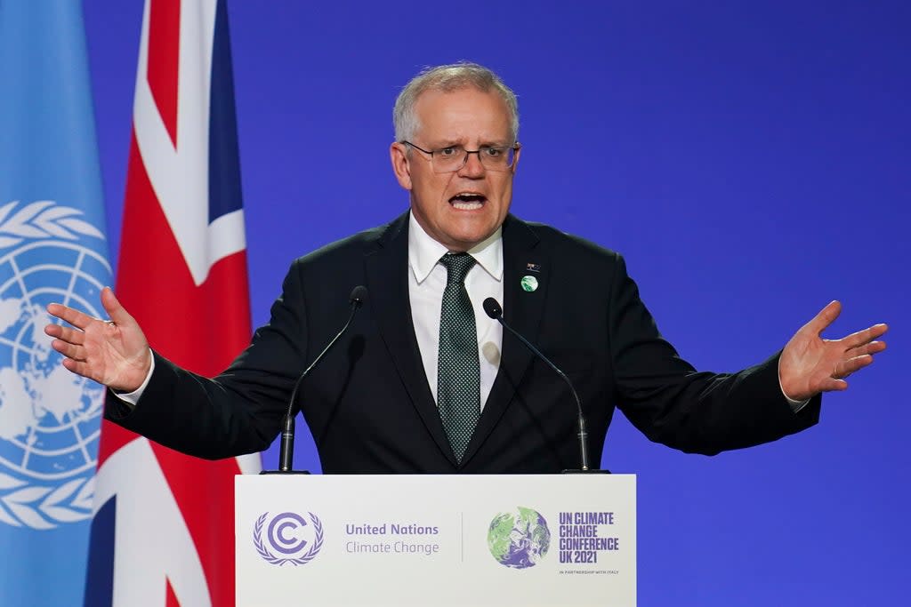
<svg viewBox="0 0 911 607"><path fill-rule="evenodd" d="M395 219L364 258L370 299L395 368L437 447L455 466L421 361L408 295L408 214Z"/></svg>

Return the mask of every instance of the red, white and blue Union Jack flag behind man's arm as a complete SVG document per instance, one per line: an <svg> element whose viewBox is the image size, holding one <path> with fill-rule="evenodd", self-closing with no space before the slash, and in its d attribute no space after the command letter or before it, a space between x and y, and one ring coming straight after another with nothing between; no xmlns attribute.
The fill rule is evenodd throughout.
<svg viewBox="0 0 911 607"><path fill-rule="evenodd" d="M164 357L216 375L250 302L224 0L147 0L117 294ZM86 604L234 604L233 477L104 422Z"/></svg>

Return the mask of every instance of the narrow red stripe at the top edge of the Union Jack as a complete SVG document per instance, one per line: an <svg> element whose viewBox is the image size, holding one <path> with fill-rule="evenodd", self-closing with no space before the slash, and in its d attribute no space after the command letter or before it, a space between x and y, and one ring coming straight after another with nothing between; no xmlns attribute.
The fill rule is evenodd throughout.
<svg viewBox="0 0 911 607"><path fill-rule="evenodd" d="M177 148L180 0L151 0L148 7L148 86Z"/></svg>

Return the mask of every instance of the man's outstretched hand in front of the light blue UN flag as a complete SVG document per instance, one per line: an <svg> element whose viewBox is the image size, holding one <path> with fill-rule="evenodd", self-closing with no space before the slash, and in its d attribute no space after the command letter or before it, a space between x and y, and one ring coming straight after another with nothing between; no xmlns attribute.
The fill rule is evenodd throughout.
<svg viewBox="0 0 911 607"><path fill-rule="evenodd" d="M102 289L101 305L110 320L50 304L47 312L72 327L47 325L45 333L55 338L51 347L64 355L64 367L108 388L132 392L142 385L151 367L148 341L110 288Z"/></svg>

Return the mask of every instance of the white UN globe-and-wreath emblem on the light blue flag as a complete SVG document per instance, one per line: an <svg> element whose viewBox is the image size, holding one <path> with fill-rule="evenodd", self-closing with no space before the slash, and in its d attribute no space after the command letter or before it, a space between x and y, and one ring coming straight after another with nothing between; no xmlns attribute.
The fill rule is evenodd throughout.
<svg viewBox="0 0 911 607"><path fill-rule="evenodd" d="M44 333L52 301L99 316L111 269L81 216L50 200L0 207L0 524L91 516L104 391L64 369Z"/></svg>

